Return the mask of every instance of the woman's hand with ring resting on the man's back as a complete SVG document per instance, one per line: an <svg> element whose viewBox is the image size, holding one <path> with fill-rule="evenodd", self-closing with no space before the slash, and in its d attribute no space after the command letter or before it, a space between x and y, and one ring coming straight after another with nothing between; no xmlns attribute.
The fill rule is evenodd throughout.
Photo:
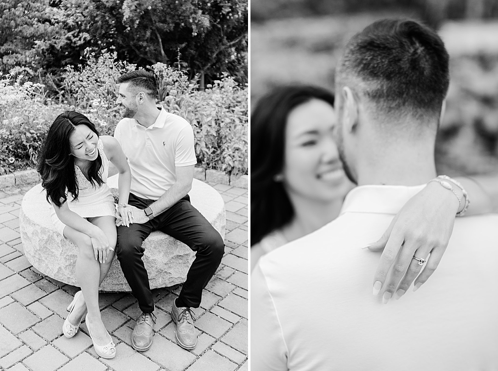
<svg viewBox="0 0 498 371"><path fill-rule="evenodd" d="M451 190L431 182L406 202L382 237L368 246L371 251L384 250L373 277L373 294L383 289L383 303L391 296L399 299L415 278L413 290L417 290L434 273L448 246L458 208ZM427 261L422 273L423 263L414 256Z"/></svg>

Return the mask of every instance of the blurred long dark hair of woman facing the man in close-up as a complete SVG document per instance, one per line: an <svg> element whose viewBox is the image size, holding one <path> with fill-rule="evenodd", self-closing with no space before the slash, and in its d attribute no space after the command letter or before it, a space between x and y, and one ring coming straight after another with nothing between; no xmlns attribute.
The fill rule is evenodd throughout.
<svg viewBox="0 0 498 371"><path fill-rule="evenodd" d="M334 105L334 94L312 86L291 85L273 89L258 100L250 117L250 219L251 245L283 227L294 208L282 182L287 116L298 105L320 99Z"/></svg>

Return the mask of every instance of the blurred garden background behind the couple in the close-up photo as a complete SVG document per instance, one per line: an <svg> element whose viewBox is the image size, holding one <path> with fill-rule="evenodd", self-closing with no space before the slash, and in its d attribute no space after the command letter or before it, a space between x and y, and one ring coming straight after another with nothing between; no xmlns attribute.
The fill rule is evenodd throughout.
<svg viewBox="0 0 498 371"><path fill-rule="evenodd" d="M498 0L251 0L251 99L282 83L334 89L345 43L376 19L438 30L450 53L438 172L498 172Z"/></svg>

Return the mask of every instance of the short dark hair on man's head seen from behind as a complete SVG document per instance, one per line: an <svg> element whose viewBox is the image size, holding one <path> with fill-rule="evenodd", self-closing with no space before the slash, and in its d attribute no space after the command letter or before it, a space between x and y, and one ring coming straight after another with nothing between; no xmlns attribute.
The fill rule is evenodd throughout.
<svg viewBox="0 0 498 371"><path fill-rule="evenodd" d="M357 93L381 114L439 117L450 80L448 61L434 30L413 20L382 19L348 42L338 66L338 87L359 81Z"/></svg>

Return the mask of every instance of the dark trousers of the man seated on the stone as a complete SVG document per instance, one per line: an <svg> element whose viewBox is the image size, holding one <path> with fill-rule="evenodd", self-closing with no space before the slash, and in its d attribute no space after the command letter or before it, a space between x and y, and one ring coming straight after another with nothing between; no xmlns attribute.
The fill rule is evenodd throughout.
<svg viewBox="0 0 498 371"><path fill-rule="evenodd" d="M129 194L128 204L144 209L154 200ZM188 245L196 252L196 257L187 273L179 298L192 308L201 304L202 290L218 269L225 244L220 234L204 216L190 203L187 194L177 203L144 224L132 223L129 227L118 227L116 254L124 277L128 281L138 306L144 313L154 310L149 278L143 265L145 249L142 242L147 236L160 230Z"/></svg>

